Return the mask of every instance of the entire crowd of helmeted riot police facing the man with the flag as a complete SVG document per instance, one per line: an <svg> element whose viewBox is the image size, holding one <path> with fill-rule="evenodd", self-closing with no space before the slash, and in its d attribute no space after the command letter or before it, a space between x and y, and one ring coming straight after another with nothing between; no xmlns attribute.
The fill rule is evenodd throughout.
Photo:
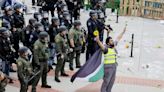
<svg viewBox="0 0 164 92"><path fill-rule="evenodd" d="M70 6L71 4L73 7ZM0 86L2 92L5 91L6 81L4 80L6 78L13 83L13 79L10 78L12 63L15 63L18 68L20 92L27 92L29 85L32 85L32 92L36 92L40 78L43 88L51 88L47 83L47 73L53 69L53 65L56 65L55 81L61 82L60 75L69 76L64 70L66 62L69 63L69 69L73 71L74 66L81 67L80 55L85 52L85 48L87 48L86 61L99 49L93 33L99 31L102 41L103 30L112 30L109 25L105 25L106 14L100 1L89 14L90 18L86 23L87 31L81 27L79 21L81 2L58 0L52 3L51 0L47 0L40 5L42 6L41 12L35 12L27 26L22 4L5 6L3 9L0 17L2 22L0 70L3 72L1 72L0 85L5 85ZM55 9L57 9L58 16L54 16ZM52 15L51 23L49 23L48 11L51 11Z"/></svg>

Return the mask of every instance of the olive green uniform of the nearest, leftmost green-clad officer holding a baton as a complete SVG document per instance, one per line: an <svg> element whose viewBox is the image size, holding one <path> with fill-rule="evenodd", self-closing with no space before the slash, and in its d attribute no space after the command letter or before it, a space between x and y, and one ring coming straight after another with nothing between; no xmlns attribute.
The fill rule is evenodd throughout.
<svg viewBox="0 0 164 92"><path fill-rule="evenodd" d="M21 84L20 92L27 92L28 85L30 85L29 79L33 76L33 70L30 61L19 57L17 59L17 68L18 68L18 79ZM38 75L39 76L39 75ZM38 77L35 76L35 77ZM31 80L32 84L32 92L36 92L36 86L39 82L39 79L34 78Z"/></svg>

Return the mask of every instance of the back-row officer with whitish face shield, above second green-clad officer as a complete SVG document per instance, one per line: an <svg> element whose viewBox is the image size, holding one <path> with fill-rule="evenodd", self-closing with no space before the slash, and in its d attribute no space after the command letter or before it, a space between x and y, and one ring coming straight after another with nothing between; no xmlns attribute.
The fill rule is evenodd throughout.
<svg viewBox="0 0 164 92"><path fill-rule="evenodd" d="M42 25L44 26L44 30L45 30L46 32L48 32L50 23L49 23L48 13L47 13L47 12L44 12L44 13L43 13L43 18L41 19L41 23L42 23Z"/></svg>

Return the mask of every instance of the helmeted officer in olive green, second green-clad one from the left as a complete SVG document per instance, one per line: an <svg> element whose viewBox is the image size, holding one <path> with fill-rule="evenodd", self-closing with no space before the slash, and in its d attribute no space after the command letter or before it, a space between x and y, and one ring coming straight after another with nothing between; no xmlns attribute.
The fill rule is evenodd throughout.
<svg viewBox="0 0 164 92"><path fill-rule="evenodd" d="M43 88L51 88L47 85L47 72L48 72L48 59L49 59L49 50L48 50L48 33L40 32L39 39L34 43L34 62L36 65L40 65L41 70L41 79Z"/></svg>

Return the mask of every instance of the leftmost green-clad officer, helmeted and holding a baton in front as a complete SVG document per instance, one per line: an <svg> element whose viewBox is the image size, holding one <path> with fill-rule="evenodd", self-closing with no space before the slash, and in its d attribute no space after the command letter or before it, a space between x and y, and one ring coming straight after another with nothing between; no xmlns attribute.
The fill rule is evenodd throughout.
<svg viewBox="0 0 164 92"><path fill-rule="evenodd" d="M19 49L19 58L17 59L17 68L18 68L18 79L21 84L20 92L27 92L28 86L32 85L32 91L36 92L36 86L39 82L39 74L34 76L32 65L29 59L29 49L27 47L21 47ZM31 79L31 77L33 77ZM30 83L32 81L32 83Z"/></svg>

